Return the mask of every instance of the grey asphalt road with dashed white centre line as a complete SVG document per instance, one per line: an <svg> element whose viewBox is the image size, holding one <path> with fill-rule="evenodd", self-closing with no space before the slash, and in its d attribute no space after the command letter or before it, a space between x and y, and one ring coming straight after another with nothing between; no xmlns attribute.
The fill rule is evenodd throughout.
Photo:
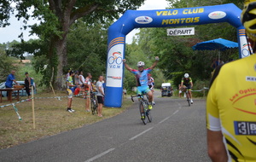
<svg viewBox="0 0 256 162"><path fill-rule="evenodd" d="M140 119L137 101L125 113L80 129L0 150L0 161L207 162L205 100L155 97L153 122ZM104 112L103 112L104 114Z"/></svg>

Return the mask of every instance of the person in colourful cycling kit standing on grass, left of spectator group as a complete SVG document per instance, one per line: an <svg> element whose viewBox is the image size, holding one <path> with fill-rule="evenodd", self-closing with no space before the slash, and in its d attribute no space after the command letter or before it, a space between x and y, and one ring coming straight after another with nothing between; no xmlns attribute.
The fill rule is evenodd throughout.
<svg viewBox="0 0 256 162"><path fill-rule="evenodd" d="M74 72L69 72L69 77L67 78L67 94L68 94L68 100L67 100L67 112L73 113L74 110L71 108L72 101L73 101L73 92L76 89L76 85L73 84L73 75Z"/></svg>

